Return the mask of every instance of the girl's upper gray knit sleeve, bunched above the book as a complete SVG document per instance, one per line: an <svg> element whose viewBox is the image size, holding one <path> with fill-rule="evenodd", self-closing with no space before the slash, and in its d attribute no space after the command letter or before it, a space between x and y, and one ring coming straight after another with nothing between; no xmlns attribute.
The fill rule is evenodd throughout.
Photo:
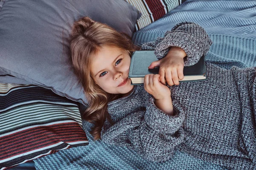
<svg viewBox="0 0 256 170"><path fill-rule="evenodd" d="M176 46L186 52L184 66L194 65L209 51L212 40L198 24L182 22L166 31L165 37L158 37L155 42L147 42L141 50L155 50L157 59L162 59L169 51L169 47Z"/></svg>

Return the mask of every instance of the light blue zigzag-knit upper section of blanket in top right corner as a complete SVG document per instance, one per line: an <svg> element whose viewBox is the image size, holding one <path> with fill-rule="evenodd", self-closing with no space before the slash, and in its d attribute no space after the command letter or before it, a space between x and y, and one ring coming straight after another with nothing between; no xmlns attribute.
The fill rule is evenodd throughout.
<svg viewBox="0 0 256 170"><path fill-rule="evenodd" d="M190 21L208 34L256 39L255 11L255 0L186 0L136 34L162 34L181 21Z"/></svg>

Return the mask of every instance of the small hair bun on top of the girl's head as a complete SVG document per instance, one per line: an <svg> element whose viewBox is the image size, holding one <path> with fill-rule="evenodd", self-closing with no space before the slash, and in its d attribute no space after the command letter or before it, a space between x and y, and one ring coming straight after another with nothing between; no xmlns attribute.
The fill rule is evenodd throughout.
<svg viewBox="0 0 256 170"><path fill-rule="evenodd" d="M89 17L82 17L78 21L75 21L72 28L72 35L74 34L84 34L86 30L95 23L94 20Z"/></svg>

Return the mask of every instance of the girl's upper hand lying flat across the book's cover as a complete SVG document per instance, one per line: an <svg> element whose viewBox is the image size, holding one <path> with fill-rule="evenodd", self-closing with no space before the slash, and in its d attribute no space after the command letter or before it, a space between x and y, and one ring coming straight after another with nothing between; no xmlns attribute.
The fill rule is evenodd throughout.
<svg viewBox="0 0 256 170"><path fill-rule="evenodd" d="M160 82L163 85L165 85L166 82L170 86L179 85L179 80L184 78L184 57L186 57L186 53L182 48L171 47L165 57L152 62L148 68L153 69L154 67L159 66L158 74L160 74Z"/></svg>

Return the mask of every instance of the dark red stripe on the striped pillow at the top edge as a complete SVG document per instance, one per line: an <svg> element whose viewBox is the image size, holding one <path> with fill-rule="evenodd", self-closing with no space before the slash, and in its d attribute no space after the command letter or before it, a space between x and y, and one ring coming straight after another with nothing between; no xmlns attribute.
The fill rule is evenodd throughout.
<svg viewBox="0 0 256 170"><path fill-rule="evenodd" d="M150 9L154 20L158 20L166 14L164 6L160 0L145 0L145 2L148 4L148 8Z"/></svg>

